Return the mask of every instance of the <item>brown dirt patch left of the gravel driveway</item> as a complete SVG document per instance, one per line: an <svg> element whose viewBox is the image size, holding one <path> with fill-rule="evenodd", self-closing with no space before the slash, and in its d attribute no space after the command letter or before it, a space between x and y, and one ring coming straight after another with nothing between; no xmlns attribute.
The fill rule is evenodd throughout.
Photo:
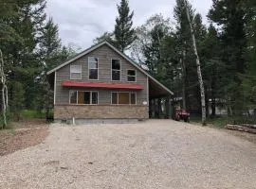
<svg viewBox="0 0 256 189"><path fill-rule="evenodd" d="M45 120L23 120L12 123L10 129L0 130L0 156L7 155L18 149L36 146L48 135Z"/></svg>

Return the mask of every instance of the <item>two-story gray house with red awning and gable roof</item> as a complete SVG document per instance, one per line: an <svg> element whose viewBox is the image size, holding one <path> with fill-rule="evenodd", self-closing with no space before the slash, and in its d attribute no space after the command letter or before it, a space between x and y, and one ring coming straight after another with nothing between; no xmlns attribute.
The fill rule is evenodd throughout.
<svg viewBox="0 0 256 189"><path fill-rule="evenodd" d="M173 93L107 42L47 72L54 119L147 119L149 100Z"/></svg>

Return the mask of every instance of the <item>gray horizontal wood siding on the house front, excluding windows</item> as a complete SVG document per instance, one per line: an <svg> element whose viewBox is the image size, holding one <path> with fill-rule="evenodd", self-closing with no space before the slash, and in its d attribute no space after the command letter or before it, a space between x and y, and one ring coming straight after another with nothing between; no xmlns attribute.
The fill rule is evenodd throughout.
<svg viewBox="0 0 256 189"><path fill-rule="evenodd" d="M88 78L88 57L99 58L99 79L89 80ZM111 81L111 60L121 60L121 80ZM110 83L127 83L127 70L134 69L137 72L137 83L143 85L142 90L110 90L110 89L94 89L94 88L66 88L62 86L62 81L70 80L70 65L82 65L82 79L75 81L90 81L90 82L110 82ZM141 73L130 62L123 59L119 54L104 44L98 49L84 55L79 60L75 60L63 68L56 71L56 86L55 86L55 105L67 105L69 104L69 91L98 91L99 92L99 105L111 104L111 92L136 92L137 93L137 105L142 106L143 102L148 103L148 79L147 76ZM129 83L129 82L128 82Z"/></svg>

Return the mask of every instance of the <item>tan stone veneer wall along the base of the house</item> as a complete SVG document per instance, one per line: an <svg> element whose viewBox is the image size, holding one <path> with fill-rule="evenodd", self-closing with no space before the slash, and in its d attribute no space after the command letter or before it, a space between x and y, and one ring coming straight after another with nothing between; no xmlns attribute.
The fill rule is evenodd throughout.
<svg viewBox="0 0 256 189"><path fill-rule="evenodd" d="M55 105L54 119L147 119L148 106Z"/></svg>

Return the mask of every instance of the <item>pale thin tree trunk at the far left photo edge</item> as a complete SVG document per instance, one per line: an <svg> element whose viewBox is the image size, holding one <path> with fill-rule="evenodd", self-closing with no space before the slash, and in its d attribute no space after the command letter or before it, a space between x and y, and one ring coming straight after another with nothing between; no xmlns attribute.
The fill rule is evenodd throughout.
<svg viewBox="0 0 256 189"><path fill-rule="evenodd" d="M6 75L4 73L4 59L3 54L0 49L0 77L1 77L1 83L2 83L2 113L3 113L3 119L4 119L4 125L2 126L2 129L7 127L7 106L8 106L8 88L6 85Z"/></svg>

